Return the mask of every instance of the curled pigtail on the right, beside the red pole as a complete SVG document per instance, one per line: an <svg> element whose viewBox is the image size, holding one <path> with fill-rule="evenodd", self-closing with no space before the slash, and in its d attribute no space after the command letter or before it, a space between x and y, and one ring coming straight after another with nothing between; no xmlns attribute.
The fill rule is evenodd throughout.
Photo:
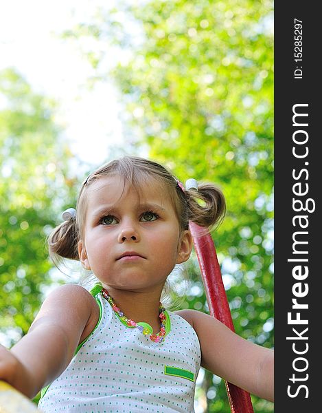
<svg viewBox="0 0 322 413"><path fill-rule="evenodd" d="M215 184L200 183L198 191L185 191L189 220L200 226L219 226L225 217L226 202L222 191Z"/></svg>

